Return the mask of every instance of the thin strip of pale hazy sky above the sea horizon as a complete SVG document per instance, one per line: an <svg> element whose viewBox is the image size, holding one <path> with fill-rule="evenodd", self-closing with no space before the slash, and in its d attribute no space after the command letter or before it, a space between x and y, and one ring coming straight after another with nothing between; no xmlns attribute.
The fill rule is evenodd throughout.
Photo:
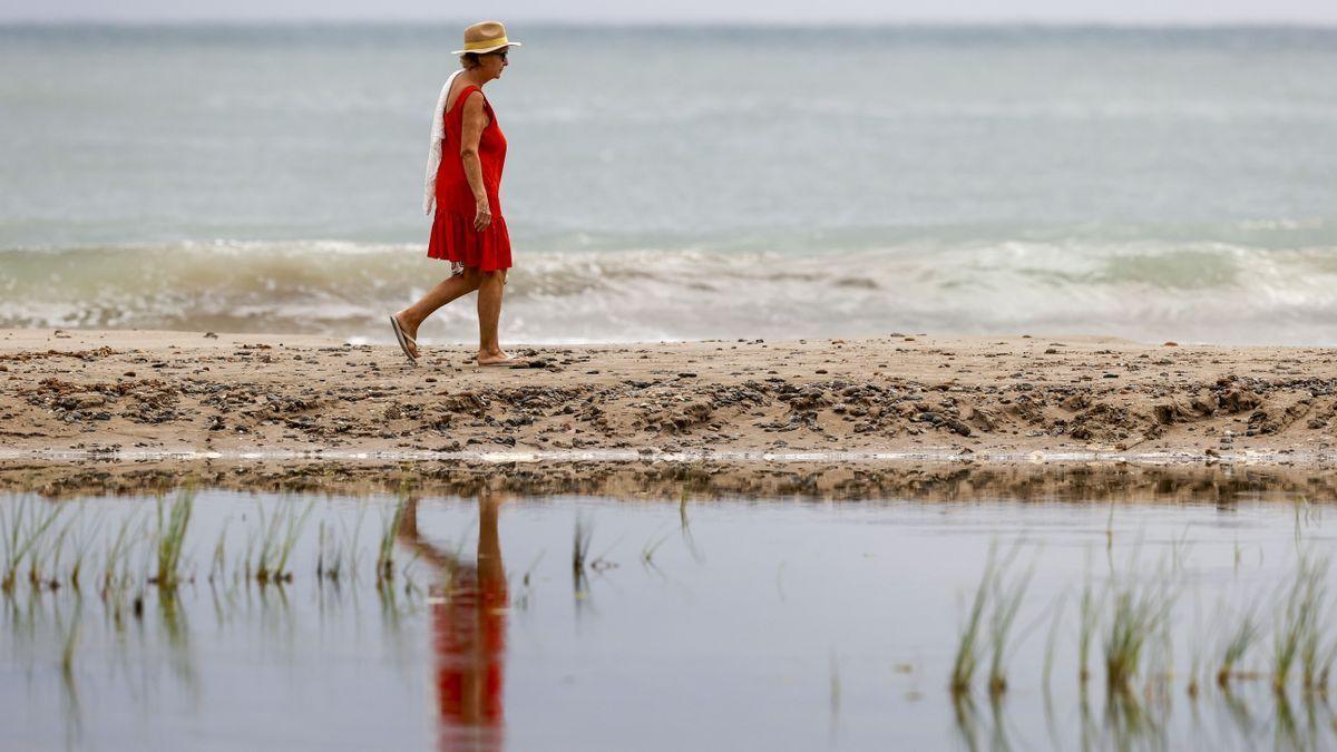
<svg viewBox="0 0 1337 752"><path fill-rule="evenodd" d="M1337 0L0 0L0 20L501 19L1337 24Z"/></svg>

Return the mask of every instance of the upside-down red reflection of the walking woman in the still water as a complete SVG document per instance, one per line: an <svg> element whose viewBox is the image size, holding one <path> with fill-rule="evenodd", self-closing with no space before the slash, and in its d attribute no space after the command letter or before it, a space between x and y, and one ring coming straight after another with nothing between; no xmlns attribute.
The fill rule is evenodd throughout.
<svg viewBox="0 0 1337 752"><path fill-rule="evenodd" d="M476 566L460 562L418 535L417 499L408 502L400 539L443 574L429 598L440 748L501 749L509 595L497 535L497 502L488 495L479 499Z"/></svg>

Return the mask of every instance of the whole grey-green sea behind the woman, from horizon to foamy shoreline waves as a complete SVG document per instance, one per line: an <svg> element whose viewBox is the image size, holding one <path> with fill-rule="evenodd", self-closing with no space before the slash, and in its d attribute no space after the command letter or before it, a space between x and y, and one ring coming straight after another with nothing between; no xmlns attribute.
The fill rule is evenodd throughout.
<svg viewBox="0 0 1337 752"><path fill-rule="evenodd" d="M1337 29L511 31L508 341L1337 341ZM386 340L457 40L0 28L0 326Z"/></svg>

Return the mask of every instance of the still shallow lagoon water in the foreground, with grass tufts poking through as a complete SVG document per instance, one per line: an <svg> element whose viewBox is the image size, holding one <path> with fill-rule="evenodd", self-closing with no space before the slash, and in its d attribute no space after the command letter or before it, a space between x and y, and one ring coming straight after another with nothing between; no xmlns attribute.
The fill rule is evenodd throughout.
<svg viewBox="0 0 1337 752"><path fill-rule="evenodd" d="M160 502L164 519L182 498ZM1297 562L1320 561L1332 541L1322 507L1304 500L205 490L194 495L183 582L170 597L147 582L156 567L148 557L155 498L0 499L9 523L20 511L24 525L44 519L55 504L64 511L51 530L68 525L68 533L59 563L48 539L44 569L60 582L84 549L82 586L35 587L29 563L20 563L15 586L0 595L5 748L1250 749L1334 741L1328 701L1301 686L1300 669L1286 694L1269 678ZM267 525L283 538L302 515L281 569L291 581L258 583ZM107 594L95 581L124 519L139 546L116 559L124 587ZM378 582L386 531L393 575ZM586 551L580 570L576 547ZM361 551L356 561L353 551ZM1025 582L1007 640L1008 689L988 692L985 645L972 690L953 697L959 629L991 551L995 562L1011 557L1000 589ZM1102 609L1082 690L1079 601L1088 578ZM1170 598L1169 640L1152 630L1138 674L1107 692L1103 642L1115 594L1157 586ZM1223 645L1247 613L1262 630L1222 692L1214 677ZM1187 692L1194 676L1195 698Z"/></svg>

